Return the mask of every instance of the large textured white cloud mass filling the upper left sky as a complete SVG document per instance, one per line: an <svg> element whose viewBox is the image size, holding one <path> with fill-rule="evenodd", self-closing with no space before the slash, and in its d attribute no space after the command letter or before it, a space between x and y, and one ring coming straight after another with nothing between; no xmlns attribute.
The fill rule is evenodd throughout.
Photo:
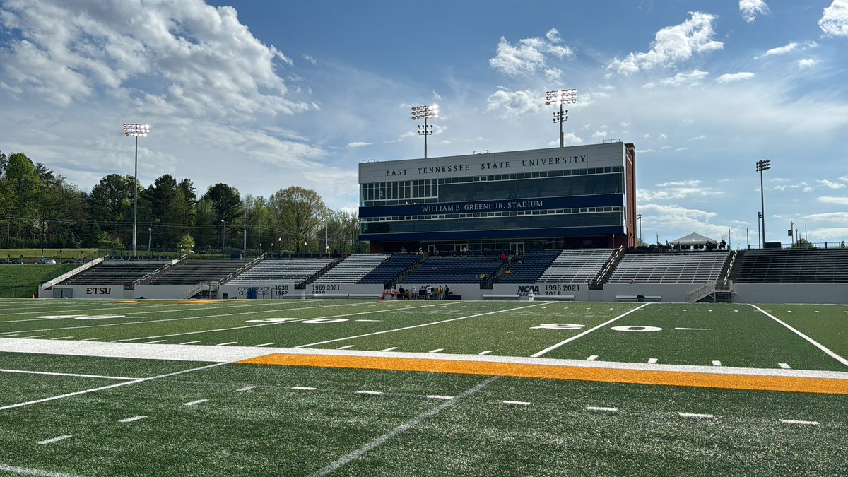
<svg viewBox="0 0 848 477"><path fill-rule="evenodd" d="M254 37L232 7L10 0L0 22L21 36L0 49L3 81L60 106L103 90L148 111L207 118L311 108L287 98L278 70L292 60Z"/></svg>

